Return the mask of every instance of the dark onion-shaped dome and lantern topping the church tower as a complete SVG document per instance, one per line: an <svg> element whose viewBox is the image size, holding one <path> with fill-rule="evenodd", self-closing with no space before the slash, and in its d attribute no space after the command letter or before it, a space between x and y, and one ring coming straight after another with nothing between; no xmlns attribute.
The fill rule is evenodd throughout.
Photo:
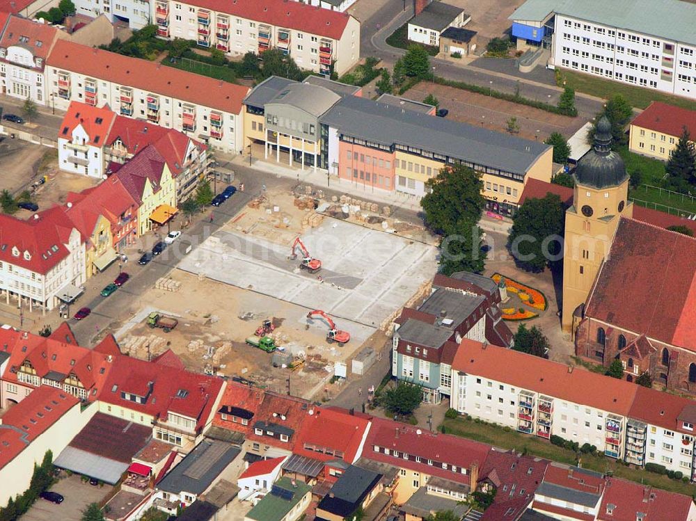
<svg viewBox="0 0 696 521"><path fill-rule="evenodd" d="M611 150L611 142L611 123L602 116L597 123L592 150L578 161L574 174L578 184L603 189L618 186L626 180L628 174L624 160Z"/></svg>

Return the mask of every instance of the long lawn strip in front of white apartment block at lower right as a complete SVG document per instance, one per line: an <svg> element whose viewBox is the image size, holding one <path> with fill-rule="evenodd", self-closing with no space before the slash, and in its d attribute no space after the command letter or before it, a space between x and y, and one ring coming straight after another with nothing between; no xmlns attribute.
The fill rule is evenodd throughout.
<svg viewBox="0 0 696 521"><path fill-rule="evenodd" d="M515 449L516 451L526 451L527 454L547 458L549 460L569 465L576 464L576 454L568 449L556 447L550 442L546 442L536 436L529 436L516 431L505 431L500 426L492 424L476 423L473 420L457 417L456 419L445 419L443 422L448 434L461 436L470 440L488 443L503 449ZM612 458L604 456L581 456L580 463L588 470L596 472L612 472L614 476L654 486L671 492L678 492L687 496L696 494L696 486L667 476L654 474L645 470L626 467Z"/></svg>

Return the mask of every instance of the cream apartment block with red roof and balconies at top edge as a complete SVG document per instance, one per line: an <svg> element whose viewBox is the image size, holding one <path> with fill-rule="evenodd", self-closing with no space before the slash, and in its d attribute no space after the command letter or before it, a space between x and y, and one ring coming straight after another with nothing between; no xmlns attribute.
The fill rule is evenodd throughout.
<svg viewBox="0 0 696 521"><path fill-rule="evenodd" d="M230 56L280 49L326 75L360 59L360 22L338 10L284 0L155 0L152 8L161 38L196 40Z"/></svg>

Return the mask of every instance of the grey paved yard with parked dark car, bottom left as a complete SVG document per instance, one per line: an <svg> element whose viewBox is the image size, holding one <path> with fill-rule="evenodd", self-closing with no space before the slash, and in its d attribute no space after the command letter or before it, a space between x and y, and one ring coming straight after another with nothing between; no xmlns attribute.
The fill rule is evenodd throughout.
<svg viewBox="0 0 696 521"><path fill-rule="evenodd" d="M99 487L82 483L80 477L75 474L64 477L51 488L51 491L62 494L65 501L56 505L45 499L37 499L29 512L22 515L22 521L77 521L88 504L99 503L111 488L107 485Z"/></svg>

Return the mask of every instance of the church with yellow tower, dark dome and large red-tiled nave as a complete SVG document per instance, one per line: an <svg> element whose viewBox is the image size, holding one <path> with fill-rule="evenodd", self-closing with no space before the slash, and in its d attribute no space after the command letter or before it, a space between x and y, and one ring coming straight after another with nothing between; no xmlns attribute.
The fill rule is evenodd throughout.
<svg viewBox="0 0 696 521"><path fill-rule="evenodd" d="M602 118L574 173L562 327L581 358L605 367L618 359L628 381L648 371L668 390L696 394L696 239L654 222L693 223L634 208L611 142Z"/></svg>

